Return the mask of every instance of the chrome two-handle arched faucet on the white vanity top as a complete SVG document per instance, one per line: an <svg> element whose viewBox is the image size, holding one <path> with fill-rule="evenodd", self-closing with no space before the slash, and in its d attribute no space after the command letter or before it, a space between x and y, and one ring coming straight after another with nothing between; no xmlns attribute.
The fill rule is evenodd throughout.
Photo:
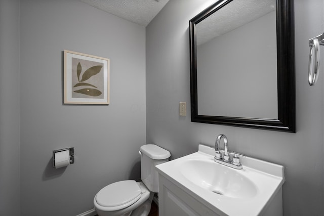
<svg viewBox="0 0 324 216"><path fill-rule="evenodd" d="M224 154L222 156L222 151L219 148L219 144L221 142L221 140L224 140ZM237 155L240 155L242 157L246 157L246 155L242 155L236 152L230 152L228 149L228 139L225 135L220 134L217 136L216 138L216 142L215 142L215 157L214 157L214 161L221 163L223 165L235 168L235 169L241 169L242 168L242 164L239 161L239 157L237 157ZM233 158L230 158L230 154L234 154Z"/></svg>

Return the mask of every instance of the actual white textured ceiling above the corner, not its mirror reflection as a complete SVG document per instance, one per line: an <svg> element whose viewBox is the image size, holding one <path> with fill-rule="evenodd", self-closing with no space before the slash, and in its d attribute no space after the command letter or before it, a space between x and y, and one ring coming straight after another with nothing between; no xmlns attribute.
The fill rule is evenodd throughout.
<svg viewBox="0 0 324 216"><path fill-rule="evenodd" d="M95 8L147 26L169 0L80 0Z"/></svg>

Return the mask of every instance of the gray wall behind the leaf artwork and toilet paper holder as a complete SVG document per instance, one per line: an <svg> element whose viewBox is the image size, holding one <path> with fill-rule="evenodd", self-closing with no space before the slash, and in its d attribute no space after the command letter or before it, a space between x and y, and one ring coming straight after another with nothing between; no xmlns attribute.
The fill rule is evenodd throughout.
<svg viewBox="0 0 324 216"><path fill-rule="evenodd" d="M63 50L110 59L110 105L63 104ZM21 215L77 215L139 179L145 112L143 26L76 0L20 2ZM53 169L65 147L75 163Z"/></svg>

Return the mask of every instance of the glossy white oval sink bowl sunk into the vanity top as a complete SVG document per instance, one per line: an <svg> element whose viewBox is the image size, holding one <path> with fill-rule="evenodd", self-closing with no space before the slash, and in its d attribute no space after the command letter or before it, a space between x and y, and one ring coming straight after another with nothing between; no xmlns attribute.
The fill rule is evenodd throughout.
<svg viewBox="0 0 324 216"><path fill-rule="evenodd" d="M187 180L211 193L233 198L249 198L257 195L256 185L241 175L241 170L228 168L216 163L212 158L188 159L177 165Z"/></svg>

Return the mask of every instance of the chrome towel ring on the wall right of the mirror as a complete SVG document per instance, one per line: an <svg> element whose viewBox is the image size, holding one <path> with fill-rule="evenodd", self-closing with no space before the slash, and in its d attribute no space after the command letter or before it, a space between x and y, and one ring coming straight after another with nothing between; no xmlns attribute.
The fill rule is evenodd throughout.
<svg viewBox="0 0 324 216"><path fill-rule="evenodd" d="M308 40L310 47L308 61L308 83L314 85L318 78L319 70L319 45L324 45L324 33Z"/></svg>

